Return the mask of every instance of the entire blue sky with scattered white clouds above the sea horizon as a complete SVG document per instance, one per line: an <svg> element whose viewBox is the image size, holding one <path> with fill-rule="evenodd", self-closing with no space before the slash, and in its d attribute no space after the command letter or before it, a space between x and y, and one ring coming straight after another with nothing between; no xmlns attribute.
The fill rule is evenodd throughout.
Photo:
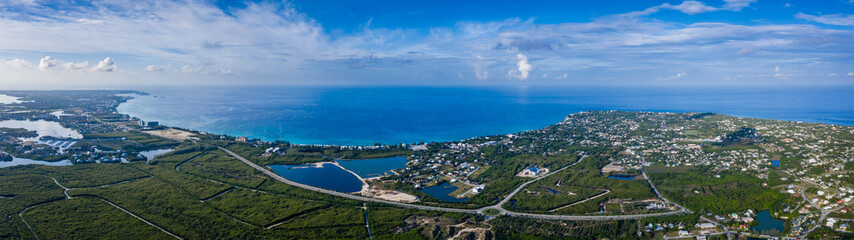
<svg viewBox="0 0 854 240"><path fill-rule="evenodd" d="M854 0L0 2L0 88L854 85Z"/></svg>

